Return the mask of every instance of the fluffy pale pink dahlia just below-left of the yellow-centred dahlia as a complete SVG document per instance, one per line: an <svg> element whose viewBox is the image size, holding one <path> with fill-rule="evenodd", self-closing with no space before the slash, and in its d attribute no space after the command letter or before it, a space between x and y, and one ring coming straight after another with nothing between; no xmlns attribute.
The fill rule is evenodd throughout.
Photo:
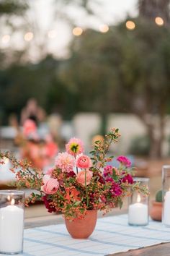
<svg viewBox="0 0 170 256"><path fill-rule="evenodd" d="M75 163L75 159L72 155L64 152L64 153L58 153L58 156L55 160L55 165L58 168L61 168L62 171L73 171L73 166Z"/></svg>

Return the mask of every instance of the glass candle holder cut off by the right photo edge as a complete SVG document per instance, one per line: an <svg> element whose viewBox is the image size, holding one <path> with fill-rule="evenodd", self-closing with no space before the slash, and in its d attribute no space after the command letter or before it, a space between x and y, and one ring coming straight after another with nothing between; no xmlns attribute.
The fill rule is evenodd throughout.
<svg viewBox="0 0 170 256"><path fill-rule="evenodd" d="M162 223L170 227L170 166L162 167Z"/></svg>

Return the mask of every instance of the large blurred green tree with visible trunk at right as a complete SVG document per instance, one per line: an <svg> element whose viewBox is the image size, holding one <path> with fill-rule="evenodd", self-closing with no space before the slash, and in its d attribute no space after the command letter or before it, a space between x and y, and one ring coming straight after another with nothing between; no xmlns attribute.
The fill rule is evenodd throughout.
<svg viewBox="0 0 170 256"><path fill-rule="evenodd" d="M61 77L84 111L137 114L146 124L150 156L158 157L170 97L170 33L153 22L135 22L133 31L123 22L107 34L88 30L76 38Z"/></svg>

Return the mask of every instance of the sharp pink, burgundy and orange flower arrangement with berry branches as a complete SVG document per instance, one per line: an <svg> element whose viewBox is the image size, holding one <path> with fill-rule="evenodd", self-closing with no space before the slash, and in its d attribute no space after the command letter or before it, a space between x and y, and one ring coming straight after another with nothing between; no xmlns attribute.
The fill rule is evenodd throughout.
<svg viewBox="0 0 170 256"><path fill-rule="evenodd" d="M120 166L110 163L113 156L107 156L109 147L120 137L118 129L111 129L104 141L96 141L91 158L84 154L81 140L72 138L66 144L66 152L58 153L55 166L46 174L32 168L27 161L17 161L9 153L0 153L0 158L12 161L12 171L16 172L17 187L37 189L27 198L26 205L35 200L43 200L50 213L61 212L69 220L81 219L87 210L107 212L122 199L130 195L130 189L147 193L146 187L133 182L133 168L125 156L119 156ZM20 167L19 171L18 168Z"/></svg>

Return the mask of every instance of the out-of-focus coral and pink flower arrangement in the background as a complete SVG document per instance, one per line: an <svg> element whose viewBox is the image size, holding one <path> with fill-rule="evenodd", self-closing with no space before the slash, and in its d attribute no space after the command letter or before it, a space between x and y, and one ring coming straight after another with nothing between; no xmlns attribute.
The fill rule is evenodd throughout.
<svg viewBox="0 0 170 256"><path fill-rule="evenodd" d="M51 159L56 155L58 146L50 135L40 139L35 121L27 119L24 122L22 136L18 141L22 158L32 162L32 166L44 168L50 164Z"/></svg>

